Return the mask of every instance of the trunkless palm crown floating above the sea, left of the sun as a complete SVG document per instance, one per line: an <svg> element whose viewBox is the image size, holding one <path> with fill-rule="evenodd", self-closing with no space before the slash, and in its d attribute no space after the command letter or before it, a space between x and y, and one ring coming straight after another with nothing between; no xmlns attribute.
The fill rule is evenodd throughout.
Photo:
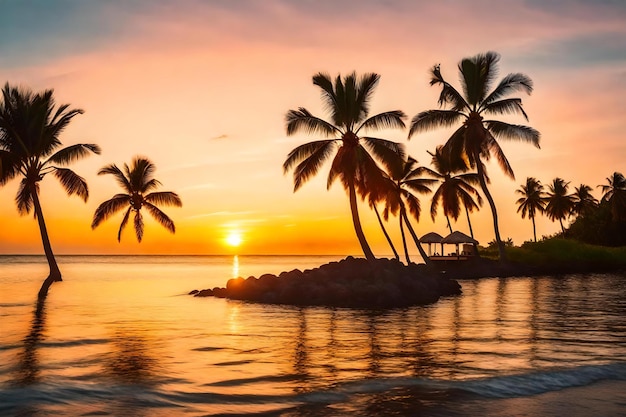
<svg viewBox="0 0 626 417"><path fill-rule="evenodd" d="M149 159L139 156L133 159L130 167L124 164L123 171L115 164L100 169L98 175L113 175L117 183L124 189L124 193L115 194L110 200L98 206L93 215L91 228L95 229L111 215L127 208L117 233L117 241L121 241L122 231L126 227L131 213L134 212L135 234L137 241L141 242L144 227L141 209L145 208L157 222L174 233L176 231L174 222L157 206L182 207L183 203L180 197L171 191L152 191L161 185L153 176L155 169L155 165Z"/></svg>

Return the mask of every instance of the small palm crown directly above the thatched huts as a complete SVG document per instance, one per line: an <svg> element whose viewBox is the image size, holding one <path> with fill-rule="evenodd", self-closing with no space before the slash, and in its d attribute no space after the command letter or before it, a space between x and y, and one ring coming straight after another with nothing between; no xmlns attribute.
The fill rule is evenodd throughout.
<svg viewBox="0 0 626 417"><path fill-rule="evenodd" d="M437 146L435 153L428 151L432 157L431 165L434 169L428 167L418 168L420 173L431 175L439 181L439 187L435 190L431 199L430 217L435 220L439 204L443 207L443 213L448 220L448 228L452 233L450 217L455 221L461 215L461 207L465 208L467 222L472 238L474 232L472 223L469 218L469 212L477 210L483 204L483 199L474 188L474 185L480 183L478 174L467 172L467 165L462 158L454 157L443 152L442 146ZM474 200L476 197L476 200Z"/></svg>

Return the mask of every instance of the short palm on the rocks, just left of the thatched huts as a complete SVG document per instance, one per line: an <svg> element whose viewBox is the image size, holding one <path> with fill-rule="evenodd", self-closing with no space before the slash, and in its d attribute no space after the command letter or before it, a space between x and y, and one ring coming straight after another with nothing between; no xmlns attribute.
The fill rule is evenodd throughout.
<svg viewBox="0 0 626 417"><path fill-rule="evenodd" d="M411 237L413 237L413 241L422 259L424 259L426 264L430 264L430 259L428 255L426 255L424 248L422 248L419 237L415 233L408 216L408 214L411 214L416 221L419 221L421 205L415 194L429 193L430 185L436 182L434 179L421 178L419 168L417 161L411 157L408 157L407 160L396 159L396 163L389 167L387 178L384 180L386 183L387 196L383 216L385 219L388 219L389 213L394 215L399 213L400 233L407 263L410 263L411 259L409 258L409 251L404 234L405 225L407 229L409 229L409 233Z"/></svg>

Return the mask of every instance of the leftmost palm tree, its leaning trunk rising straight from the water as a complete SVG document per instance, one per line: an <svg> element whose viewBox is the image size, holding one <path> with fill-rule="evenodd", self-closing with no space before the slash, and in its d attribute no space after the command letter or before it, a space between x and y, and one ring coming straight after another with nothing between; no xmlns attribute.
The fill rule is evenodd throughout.
<svg viewBox="0 0 626 417"><path fill-rule="evenodd" d="M48 229L39 200L39 183L48 174L56 177L68 195L77 195L84 201L89 197L87 182L64 166L100 153L94 144L77 144L65 148L59 139L70 121L83 110L70 109L69 104L55 106L53 90L33 93L28 89L10 86L2 89L0 102L0 186L15 177L22 180L15 202L20 215L34 211L39 224L41 241L50 274L39 290L44 299L55 281L61 281Z"/></svg>

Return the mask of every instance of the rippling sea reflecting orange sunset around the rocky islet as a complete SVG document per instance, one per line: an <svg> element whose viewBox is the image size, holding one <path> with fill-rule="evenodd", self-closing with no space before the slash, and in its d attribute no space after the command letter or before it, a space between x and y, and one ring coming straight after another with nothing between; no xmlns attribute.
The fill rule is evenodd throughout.
<svg viewBox="0 0 626 417"><path fill-rule="evenodd" d="M0 256L2 416L626 415L626 276L394 311L194 298L339 257Z"/></svg>

